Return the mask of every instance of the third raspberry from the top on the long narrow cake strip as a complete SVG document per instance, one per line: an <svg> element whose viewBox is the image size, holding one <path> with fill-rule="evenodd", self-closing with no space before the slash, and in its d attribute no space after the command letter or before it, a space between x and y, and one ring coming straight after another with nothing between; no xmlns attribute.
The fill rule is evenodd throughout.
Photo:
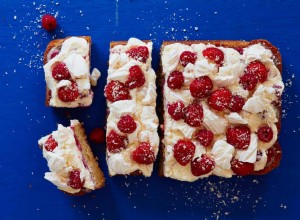
<svg viewBox="0 0 300 220"><path fill-rule="evenodd" d="M124 83L112 80L105 86L105 96L111 102L130 99L129 90Z"/></svg>

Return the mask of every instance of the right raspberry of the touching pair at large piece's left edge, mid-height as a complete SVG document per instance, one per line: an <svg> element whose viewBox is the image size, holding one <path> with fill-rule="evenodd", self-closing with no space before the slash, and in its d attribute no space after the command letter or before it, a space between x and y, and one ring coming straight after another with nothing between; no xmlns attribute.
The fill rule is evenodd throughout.
<svg viewBox="0 0 300 220"><path fill-rule="evenodd" d="M184 121L192 126L199 127L203 122L203 107L199 103L192 103L183 109Z"/></svg>

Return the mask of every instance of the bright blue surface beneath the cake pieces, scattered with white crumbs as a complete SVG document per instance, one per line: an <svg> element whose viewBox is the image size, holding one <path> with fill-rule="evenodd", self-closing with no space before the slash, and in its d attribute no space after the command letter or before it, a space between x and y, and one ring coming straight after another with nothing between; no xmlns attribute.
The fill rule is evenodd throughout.
<svg viewBox="0 0 300 220"><path fill-rule="evenodd" d="M9 1L0 9L0 219L299 219L299 48L297 1ZM56 14L59 27L47 33L41 15ZM44 105L42 56L51 39L90 35L92 67L102 72L93 105L53 109ZM265 176L195 183L153 176L109 178L105 146L92 145L106 187L71 197L43 179L47 171L37 140L70 118L89 133L105 124L103 88L109 42L129 37L154 42L158 69L163 40L265 38L283 57L281 166Z"/></svg>

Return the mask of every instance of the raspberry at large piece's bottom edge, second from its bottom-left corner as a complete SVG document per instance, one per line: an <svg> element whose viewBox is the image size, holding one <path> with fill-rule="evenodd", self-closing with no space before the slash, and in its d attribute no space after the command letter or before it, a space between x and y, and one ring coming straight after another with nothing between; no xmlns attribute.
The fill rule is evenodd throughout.
<svg viewBox="0 0 300 220"><path fill-rule="evenodd" d="M201 158L197 157L192 161L191 171L194 176L208 174L215 168L215 162L206 154L202 154Z"/></svg>

